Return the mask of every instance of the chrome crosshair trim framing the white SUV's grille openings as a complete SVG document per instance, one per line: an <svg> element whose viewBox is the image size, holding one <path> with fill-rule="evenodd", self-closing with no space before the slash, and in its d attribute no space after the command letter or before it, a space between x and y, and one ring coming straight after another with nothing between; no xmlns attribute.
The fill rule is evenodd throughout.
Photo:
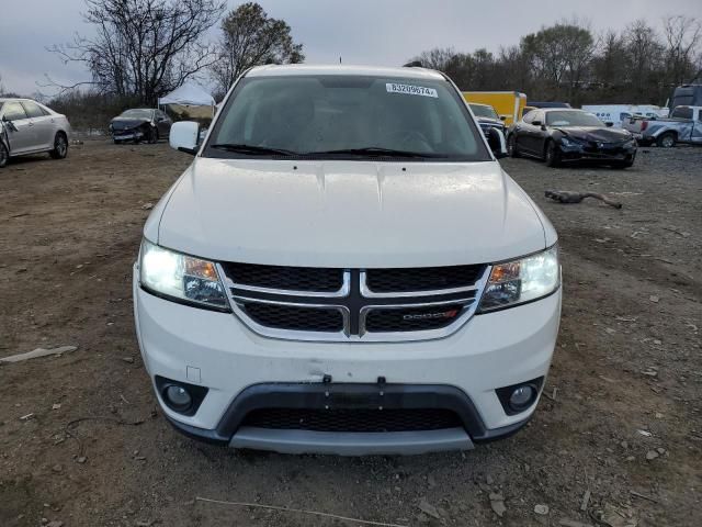
<svg viewBox="0 0 702 527"><path fill-rule="evenodd" d="M347 299L351 294L351 271L344 270L343 272L343 287L339 291L344 291L346 294L341 295L339 292L335 292L333 296L329 296L331 293L319 293L315 294L315 292L309 291L291 291L291 290L276 290L276 289L268 289L268 288L254 288L254 287L241 287L241 284L236 284L231 281L220 264L216 265L217 272L220 277L223 277L225 281L225 292L227 294L227 299L229 304L231 305L231 310L237 318L247 326L249 329L254 333L270 338L276 338L282 340L298 340L298 341L317 341L317 343L400 343L400 341L419 341L419 340L433 340L445 338L454 333L456 333L461 327L463 327L475 314L477 306L479 304L479 300L483 295L483 291L487 284L488 278L490 276L490 271L492 270L491 266L485 266L485 270L483 276L476 280L476 282L467 288L453 288L453 289L444 289L437 291L416 291L414 293L407 294L406 292L398 293L381 293L378 296L366 296L362 290L363 279L361 279L361 283L359 284L359 293L362 299L398 299L398 302L388 302L374 304L374 305L365 305L359 312L359 333L358 335L352 335L350 333L351 328L351 312L350 310L339 303L336 304L332 299L339 299L339 302L342 299ZM363 273L364 271L360 271ZM248 289L247 289L248 288ZM287 300L270 300L262 299L257 296L249 296L246 294L238 294L236 290L241 291L251 291L267 294L278 294L282 296L290 296L290 301ZM367 291L367 288L366 288ZM469 298L460 296L458 299L446 299L446 300L437 300L432 302L406 302L403 303L403 299L408 299L409 296L421 298L421 296L441 296L448 294L458 294L461 292L465 292L471 294ZM298 301L295 301L295 298ZM305 298L310 299L310 302L301 302L299 300L304 300ZM315 302L314 299L326 299L329 303L321 303L321 301ZM315 332L315 330L299 330L299 329L281 329L269 326L263 326L256 321L253 321L245 311L242 303L253 302L253 303L270 303L275 305L284 305L290 307L313 307L313 309L329 309L340 311L343 317L343 330L342 332ZM380 332L366 332L365 330L365 318L367 314L374 309L416 309L416 307L433 307L433 306L443 306L449 304L464 304L462 313L457 315L454 321L446 325L445 327L437 328L437 329L426 329L426 330L405 330L405 332L392 332L392 333L380 333Z"/></svg>

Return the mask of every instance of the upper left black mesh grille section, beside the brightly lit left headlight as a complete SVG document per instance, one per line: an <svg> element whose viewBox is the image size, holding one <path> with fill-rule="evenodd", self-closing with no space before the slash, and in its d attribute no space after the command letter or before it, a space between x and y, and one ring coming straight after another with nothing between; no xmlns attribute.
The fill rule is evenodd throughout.
<svg viewBox="0 0 702 527"><path fill-rule="evenodd" d="M225 264L224 268L235 282L259 288L335 292L343 282L343 269L252 264Z"/></svg>

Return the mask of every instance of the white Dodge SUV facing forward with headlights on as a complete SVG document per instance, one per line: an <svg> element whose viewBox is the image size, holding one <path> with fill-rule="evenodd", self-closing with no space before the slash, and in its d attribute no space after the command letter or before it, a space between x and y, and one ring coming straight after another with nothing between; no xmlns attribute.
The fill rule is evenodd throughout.
<svg viewBox="0 0 702 527"><path fill-rule="evenodd" d="M146 223L134 310L176 428L365 455L528 422L558 332L557 236L449 78L253 68L202 145L195 123L170 142L195 158Z"/></svg>

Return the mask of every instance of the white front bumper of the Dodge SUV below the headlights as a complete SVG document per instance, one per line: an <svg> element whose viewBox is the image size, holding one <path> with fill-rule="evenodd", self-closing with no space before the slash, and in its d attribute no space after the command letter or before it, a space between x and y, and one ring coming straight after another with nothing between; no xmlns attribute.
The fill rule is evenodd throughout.
<svg viewBox="0 0 702 527"><path fill-rule="evenodd" d="M305 343L262 337L235 315L156 298L134 281L134 310L144 363L160 375L207 388L192 416L162 411L181 431L238 448L281 452L420 453L472 448L525 424L536 402L507 415L495 390L546 375L558 330L561 291L526 305L476 315L455 334L417 343ZM509 328L509 330L505 330ZM324 433L240 426L241 401L252 391L272 397L281 386L296 394L341 385L449 391L458 401L463 426L398 433ZM261 388L262 386L262 388ZM302 390L301 390L302 389ZM260 393L259 393L260 394ZM299 395L288 394L290 397ZM438 395L435 395L438 396ZM305 404L309 395L303 395ZM405 403L400 403L405 404ZM234 416L234 417L233 417Z"/></svg>

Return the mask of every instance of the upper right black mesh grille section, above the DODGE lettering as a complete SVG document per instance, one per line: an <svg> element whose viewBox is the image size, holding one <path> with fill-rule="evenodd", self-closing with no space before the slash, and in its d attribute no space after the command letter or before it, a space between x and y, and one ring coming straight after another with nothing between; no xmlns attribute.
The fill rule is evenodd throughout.
<svg viewBox="0 0 702 527"><path fill-rule="evenodd" d="M376 293L404 293L473 285L485 266L369 269L366 283Z"/></svg>

